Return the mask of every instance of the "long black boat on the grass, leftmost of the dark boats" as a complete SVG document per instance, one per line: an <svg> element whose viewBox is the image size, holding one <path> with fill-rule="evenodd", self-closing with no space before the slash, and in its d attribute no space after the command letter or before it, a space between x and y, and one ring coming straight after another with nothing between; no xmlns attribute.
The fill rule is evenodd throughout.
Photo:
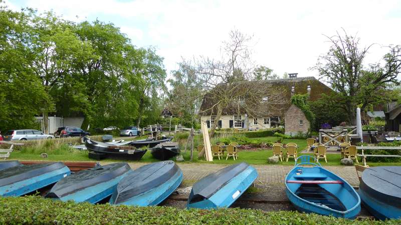
<svg viewBox="0 0 401 225"><path fill-rule="evenodd" d="M146 153L147 149L137 149L132 146L119 146L91 139L85 140L85 146L88 148L89 157L95 159L113 158L125 160L139 160Z"/></svg>

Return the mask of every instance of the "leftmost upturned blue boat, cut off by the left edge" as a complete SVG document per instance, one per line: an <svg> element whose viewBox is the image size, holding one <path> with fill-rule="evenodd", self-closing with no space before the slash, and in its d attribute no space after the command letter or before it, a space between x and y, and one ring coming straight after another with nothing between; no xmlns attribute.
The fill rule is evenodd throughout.
<svg viewBox="0 0 401 225"><path fill-rule="evenodd" d="M0 170L0 195L21 196L70 175L63 162L17 165Z"/></svg>

